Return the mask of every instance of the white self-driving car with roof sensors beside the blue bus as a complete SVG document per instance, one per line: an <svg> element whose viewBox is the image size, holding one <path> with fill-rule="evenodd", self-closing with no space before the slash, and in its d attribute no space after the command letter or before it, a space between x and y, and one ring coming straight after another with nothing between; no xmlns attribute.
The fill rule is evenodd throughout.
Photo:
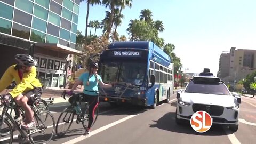
<svg viewBox="0 0 256 144"><path fill-rule="evenodd" d="M241 98L231 94L220 78L201 73L190 79L185 90L177 93L176 123L190 121L196 111L203 110L211 115L213 124L227 125L236 132L239 104Z"/></svg>

